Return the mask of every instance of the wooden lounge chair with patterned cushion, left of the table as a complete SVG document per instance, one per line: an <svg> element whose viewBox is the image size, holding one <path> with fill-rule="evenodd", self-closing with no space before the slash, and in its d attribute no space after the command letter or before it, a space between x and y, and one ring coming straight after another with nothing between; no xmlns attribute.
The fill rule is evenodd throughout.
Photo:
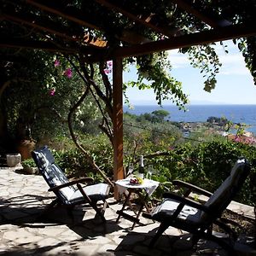
<svg viewBox="0 0 256 256"><path fill-rule="evenodd" d="M83 177L69 181L61 168L55 164L54 156L49 148L44 146L32 151L32 158L38 166L39 172L43 175L49 185L49 191L53 191L56 199L49 207L61 204L67 207L68 215L73 218L73 207L76 205L89 203L95 209L102 221L105 221L104 211L107 207L109 186L106 183L96 183L83 186L83 183L91 183L91 177ZM97 207L97 201L103 201L103 207Z"/></svg>

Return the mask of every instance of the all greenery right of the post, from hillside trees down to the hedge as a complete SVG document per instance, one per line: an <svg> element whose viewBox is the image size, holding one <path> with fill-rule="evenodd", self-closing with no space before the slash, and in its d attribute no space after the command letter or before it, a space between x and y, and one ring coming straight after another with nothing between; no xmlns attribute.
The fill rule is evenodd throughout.
<svg viewBox="0 0 256 256"><path fill-rule="evenodd" d="M222 121L222 119L219 120ZM136 116L125 113L125 123L133 124L128 127L125 125L125 166L136 160L140 154L146 156L161 152L154 157L146 157L144 161L146 170L148 166L154 168L152 178L160 181L160 187L154 194L155 197L160 198L163 192L172 190L174 179L194 183L213 192L228 177L236 160L239 157L246 157L253 163L253 168L236 200L250 205L255 203L256 195L253 194L255 190L253 180L256 177L255 147L226 141L226 138L214 135L212 130L209 131L206 128L206 131L201 129L189 137L189 139L193 138L188 140L189 143L178 143L177 135L172 140L172 135L168 132L163 132L163 134L156 132L158 138L154 138L154 125L159 129L162 124L148 123L147 125L147 120L142 118L139 121L137 122ZM141 129L142 125L144 128L150 125L150 130ZM165 122L163 125L168 127L169 124ZM161 139L163 139L162 143L159 143ZM200 140L201 143L199 143Z"/></svg>

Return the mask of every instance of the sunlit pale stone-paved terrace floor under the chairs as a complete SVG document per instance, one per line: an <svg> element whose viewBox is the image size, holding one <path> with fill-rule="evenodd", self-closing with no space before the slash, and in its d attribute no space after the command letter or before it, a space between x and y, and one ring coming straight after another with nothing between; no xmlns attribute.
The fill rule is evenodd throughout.
<svg viewBox="0 0 256 256"><path fill-rule="evenodd" d="M75 208L74 224L61 207L39 220L44 207L55 198L47 189L41 176L15 168L0 169L0 255L227 255L210 241L200 241L192 250L189 234L174 228L166 230L154 248L148 249L159 224L142 218L144 225L137 225L132 231L131 222L124 218L117 224L116 211L121 204L113 198L108 200L106 224L94 218L90 207ZM243 211L236 204L237 209ZM247 215L250 214L252 207L247 208ZM256 255L244 241L236 243L237 254Z"/></svg>

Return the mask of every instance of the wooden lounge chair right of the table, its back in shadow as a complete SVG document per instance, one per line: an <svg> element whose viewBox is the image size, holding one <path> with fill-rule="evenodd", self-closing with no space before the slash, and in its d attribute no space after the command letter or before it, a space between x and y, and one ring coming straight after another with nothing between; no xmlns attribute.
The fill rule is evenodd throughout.
<svg viewBox="0 0 256 256"><path fill-rule="evenodd" d="M212 194L207 190L198 188L190 183L175 180L173 183L178 188L183 188L183 195L166 193L164 201L155 207L150 213L143 213L143 217L160 222L150 246L154 246L155 241L169 227L185 230L192 234L192 244L195 245L201 238L217 242L220 246L232 251L233 242L236 241L236 233L221 218L222 213L229 206L237 191L245 182L250 171L250 166L245 159L236 161L230 176L224 180L219 188ZM206 195L208 200L201 204L189 197L190 193ZM214 236L212 234L212 224L217 224L230 235L230 241Z"/></svg>

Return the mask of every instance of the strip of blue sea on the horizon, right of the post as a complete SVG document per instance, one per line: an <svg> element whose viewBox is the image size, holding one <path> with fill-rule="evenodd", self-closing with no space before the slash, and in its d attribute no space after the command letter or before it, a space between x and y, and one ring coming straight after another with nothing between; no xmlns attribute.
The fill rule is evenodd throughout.
<svg viewBox="0 0 256 256"><path fill-rule="evenodd" d="M206 122L208 117L225 117L233 123L249 125L247 131L256 136L256 105L190 105L188 110L178 110L176 106L168 105L160 108L155 105L133 106L133 109L124 106L124 112L133 114L151 113L154 110L165 109L170 113L169 120L175 122Z"/></svg>

